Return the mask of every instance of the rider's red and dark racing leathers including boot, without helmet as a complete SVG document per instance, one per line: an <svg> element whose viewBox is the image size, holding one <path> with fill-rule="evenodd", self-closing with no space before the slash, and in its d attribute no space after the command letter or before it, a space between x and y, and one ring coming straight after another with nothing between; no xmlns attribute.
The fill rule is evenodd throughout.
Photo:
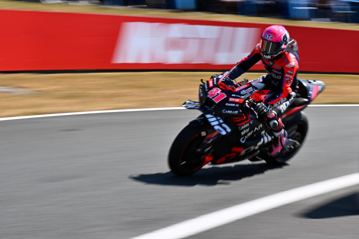
<svg viewBox="0 0 359 239"><path fill-rule="evenodd" d="M292 45L290 45L290 43ZM286 138L284 125L281 121L282 113L292 104L297 84L298 72L298 48L295 40L289 40L287 50L277 58L267 60L261 55L260 44L257 44L253 51L240 62L237 63L230 74L229 78L234 80L249 70L258 61L262 61L267 71L266 76L260 78L261 83L265 83L270 92L262 103L256 105L255 109L258 115L264 118L266 124L272 129L274 134L274 144L269 153L270 156L275 156L283 148L298 147L298 142ZM293 51L294 49L294 51Z"/></svg>

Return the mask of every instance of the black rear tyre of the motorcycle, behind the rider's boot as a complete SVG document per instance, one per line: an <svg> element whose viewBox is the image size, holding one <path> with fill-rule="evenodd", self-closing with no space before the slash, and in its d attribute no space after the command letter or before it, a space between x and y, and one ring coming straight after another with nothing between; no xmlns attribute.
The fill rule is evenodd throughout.
<svg viewBox="0 0 359 239"><path fill-rule="evenodd" d="M291 152L280 153L276 157L270 157L270 156L262 157L268 164L274 164L274 165L285 164L298 152L300 147L302 147L308 132L308 119L303 112L300 112L300 114L301 115L299 120L297 120L297 122L293 126L290 126L290 128L287 131L288 138L297 140L300 143L300 146Z"/></svg>

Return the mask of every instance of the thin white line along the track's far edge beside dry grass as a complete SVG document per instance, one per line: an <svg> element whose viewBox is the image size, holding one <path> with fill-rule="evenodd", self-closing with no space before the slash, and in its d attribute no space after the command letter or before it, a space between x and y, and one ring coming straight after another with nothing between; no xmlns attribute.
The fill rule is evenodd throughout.
<svg viewBox="0 0 359 239"><path fill-rule="evenodd" d="M315 106L359 106L359 105L309 105ZM46 114L46 115L28 115L28 116L16 116L0 118L0 121L15 120L15 119L31 119L42 118L50 116L65 116L65 115L85 115L85 114L99 114L99 113L116 113L116 112L131 112L131 111L151 111L151 110L183 110L183 107L165 107L165 108L145 108L145 109L127 109L127 110L98 110L98 111L84 111L84 112L72 112L72 113L60 113L60 114Z"/></svg>

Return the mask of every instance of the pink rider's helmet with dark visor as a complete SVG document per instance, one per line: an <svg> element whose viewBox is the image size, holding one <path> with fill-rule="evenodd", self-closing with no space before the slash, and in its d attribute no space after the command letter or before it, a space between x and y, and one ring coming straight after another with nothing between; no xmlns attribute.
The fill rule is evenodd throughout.
<svg viewBox="0 0 359 239"><path fill-rule="evenodd" d="M289 40L288 31L281 25L267 27L261 35L260 48L266 60L279 58L285 52Z"/></svg>

